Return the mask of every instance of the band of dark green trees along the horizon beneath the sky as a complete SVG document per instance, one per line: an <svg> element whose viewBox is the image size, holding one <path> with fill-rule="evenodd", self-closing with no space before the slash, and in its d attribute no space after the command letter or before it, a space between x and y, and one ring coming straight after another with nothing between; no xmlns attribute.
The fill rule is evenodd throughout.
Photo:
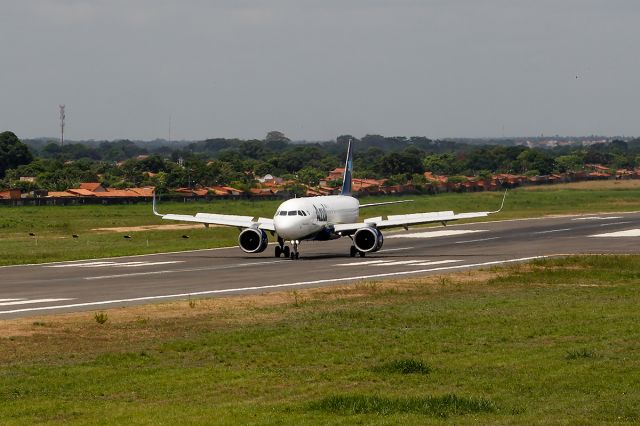
<svg viewBox="0 0 640 426"><path fill-rule="evenodd" d="M354 176L387 178L390 183L424 181L425 171L447 176L494 173L545 175L580 171L597 163L614 169L640 167L640 139L589 146L530 148L478 145L425 137L342 135L334 141L294 143L281 132L262 140L207 139L145 146L129 140L25 144L12 132L0 133L0 189L64 190L80 182L114 188L234 185L248 189L270 173L315 186L341 167L354 139ZM35 177L35 182L20 177Z"/></svg>

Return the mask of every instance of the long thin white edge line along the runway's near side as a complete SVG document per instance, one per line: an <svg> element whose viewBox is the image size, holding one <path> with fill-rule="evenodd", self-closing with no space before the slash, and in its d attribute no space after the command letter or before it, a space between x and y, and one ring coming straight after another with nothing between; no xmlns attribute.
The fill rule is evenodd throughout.
<svg viewBox="0 0 640 426"><path fill-rule="evenodd" d="M68 308L80 308L80 307L89 307L89 306L101 306L101 305L113 305L116 303L127 303L127 302L146 302L152 300L162 300L162 299L178 299L178 298L186 298L193 296L206 296L206 295L214 295L214 294L228 294L228 293L244 293L248 291L256 291L256 290L270 290L277 288L288 288L288 287L302 287L309 286L315 284L328 284L328 283L338 283L344 281L356 281L356 280L366 280L372 278L387 278L393 276L402 276L402 275L411 275L411 274L420 274L426 272L439 272L439 271L447 271L453 269L464 269L464 268L475 268L481 266L491 266L491 265L500 265L504 263L514 263L514 262L526 262L528 260L534 259L543 259L548 258L550 256L533 256L533 257L521 257L519 259L508 259L508 260L495 260L491 262L483 262L483 263L472 263L467 265L455 265L455 266L444 266L438 268L429 268L429 269L418 269L413 271L401 271L401 272L388 272L384 274L371 274L371 275L359 275L353 277L344 277L344 278L329 278L324 280L315 280L315 281L300 281L295 283L287 283L287 284L272 284L272 285L264 285L264 286L255 286L255 287L243 287L243 288L226 288L221 290L208 290L208 291L196 291L192 293L177 293L177 294L166 294L161 296L144 296L144 297L135 297L131 299L117 299L117 300L103 300L99 302L87 302L87 303L72 303L68 305L57 305L57 306L43 306L39 308L23 308L23 309L14 309L10 311L0 311L0 314L15 314L20 312L35 312L35 311L49 311L54 309L68 309Z"/></svg>

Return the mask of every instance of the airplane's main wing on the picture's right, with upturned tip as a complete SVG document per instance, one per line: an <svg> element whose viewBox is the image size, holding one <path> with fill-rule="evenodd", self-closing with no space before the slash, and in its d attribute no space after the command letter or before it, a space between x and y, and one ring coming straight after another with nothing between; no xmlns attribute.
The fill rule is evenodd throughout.
<svg viewBox="0 0 640 426"><path fill-rule="evenodd" d="M378 229L400 228L400 227L406 228L410 225L421 225L425 223L434 223L434 222L442 222L443 224L446 224L447 222L451 222L454 220L486 217L486 216L489 216L490 214L494 214L502 211L502 207L504 207L504 200L506 196L507 196L507 192L505 191L504 197L502 198L502 205L498 210L492 211L492 212L470 212L470 213L455 214L453 211L442 211L442 212L390 215L390 216L387 216L386 219L384 219L382 216L379 216L379 217L372 217L369 219L365 219L363 222L359 222L359 223L336 224L334 225L333 230L334 232L340 233L342 235L349 235L354 233L360 228L368 228L368 227L375 227Z"/></svg>

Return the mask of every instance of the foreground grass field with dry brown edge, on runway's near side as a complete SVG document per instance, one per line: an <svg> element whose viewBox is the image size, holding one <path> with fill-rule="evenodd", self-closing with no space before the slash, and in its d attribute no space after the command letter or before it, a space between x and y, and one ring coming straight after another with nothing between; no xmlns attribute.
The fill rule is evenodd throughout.
<svg viewBox="0 0 640 426"><path fill-rule="evenodd" d="M640 256L4 321L0 423L640 422Z"/></svg>

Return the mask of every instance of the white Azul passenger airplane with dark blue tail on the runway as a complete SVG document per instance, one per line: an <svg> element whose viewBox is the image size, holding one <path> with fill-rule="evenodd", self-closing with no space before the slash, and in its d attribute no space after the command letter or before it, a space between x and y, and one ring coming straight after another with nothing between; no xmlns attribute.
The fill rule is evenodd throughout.
<svg viewBox="0 0 640 426"><path fill-rule="evenodd" d="M341 237L349 237L352 245L351 257L365 257L382 248L384 243L383 229L404 228L411 225L440 222L446 225L459 219L486 217L498 213L504 207L506 191L500 209L492 212L470 212L455 214L453 211L414 213L373 217L358 221L361 208L386 204L404 203L411 200L387 201L381 203L360 204L352 196L353 152L352 141L349 140L347 160L345 163L343 184L339 195L318 197L302 197L289 199L278 207L273 219L254 216L227 215L216 213L197 213L195 215L161 214L156 209L156 196L153 194L153 213L164 220L202 223L209 225L226 225L237 227L241 232L238 245L245 253L262 253L269 243L267 231L277 235L275 257L284 256L291 260L300 257L299 246L302 241L327 241ZM255 219L255 220L254 220ZM286 245L291 243L291 248Z"/></svg>

